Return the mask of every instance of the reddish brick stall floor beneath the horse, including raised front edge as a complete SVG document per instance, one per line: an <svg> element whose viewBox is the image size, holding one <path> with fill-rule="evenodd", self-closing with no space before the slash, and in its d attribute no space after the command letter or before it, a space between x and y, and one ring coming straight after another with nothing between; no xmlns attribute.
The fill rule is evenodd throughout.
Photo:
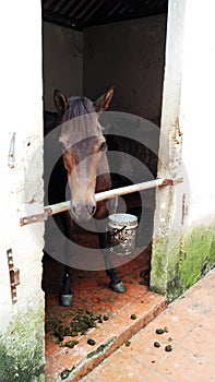
<svg viewBox="0 0 215 382"><path fill-rule="evenodd" d="M61 381L61 373L72 368L74 368L73 372L65 380L79 381L166 308L164 297L148 291L146 285L140 284L143 282L140 273L150 267L150 261L151 246L135 259L117 268L117 273L126 284L126 294L116 294L109 289L109 278L105 271L72 270L74 298L72 307L67 308L59 306L58 300L63 265L53 260L45 261L47 323L60 321L61 325L68 326L71 318L80 309L109 317L107 322L97 323L97 327L88 330L85 335L64 337L63 343L71 339L79 341L74 348L59 346L53 333L48 331L46 334L47 382ZM132 320L131 314L135 314L136 319ZM89 337L96 342L95 346L87 344ZM96 349L96 354L89 357L88 355Z"/></svg>

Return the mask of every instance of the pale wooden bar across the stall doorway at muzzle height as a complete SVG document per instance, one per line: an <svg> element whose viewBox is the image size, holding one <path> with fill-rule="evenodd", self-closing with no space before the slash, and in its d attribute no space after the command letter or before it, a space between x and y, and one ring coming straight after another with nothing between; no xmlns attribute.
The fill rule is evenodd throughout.
<svg viewBox="0 0 215 382"><path fill-rule="evenodd" d="M127 195L132 192L144 191L155 187L160 186L171 186L174 181L171 179L155 179L142 183L136 183L132 186L120 187L118 189L108 190L104 192L98 192L95 194L96 202L101 202L104 200L109 200L116 196ZM61 212L70 210L70 201L52 204L44 207L44 213L36 214L32 216L21 217L20 225L25 226L32 223L44 222L48 216L59 214Z"/></svg>

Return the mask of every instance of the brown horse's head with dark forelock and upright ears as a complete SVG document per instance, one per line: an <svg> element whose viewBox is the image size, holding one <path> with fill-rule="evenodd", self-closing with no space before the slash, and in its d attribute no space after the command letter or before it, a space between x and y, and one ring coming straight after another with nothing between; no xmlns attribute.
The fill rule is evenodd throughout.
<svg viewBox="0 0 215 382"><path fill-rule="evenodd" d="M103 164L107 164L98 112L108 108L112 94L110 88L95 103L85 97L68 99L60 91L53 94L61 124L59 142L71 191L71 214L77 222L89 220L96 212L96 178L100 166L105 168Z"/></svg>

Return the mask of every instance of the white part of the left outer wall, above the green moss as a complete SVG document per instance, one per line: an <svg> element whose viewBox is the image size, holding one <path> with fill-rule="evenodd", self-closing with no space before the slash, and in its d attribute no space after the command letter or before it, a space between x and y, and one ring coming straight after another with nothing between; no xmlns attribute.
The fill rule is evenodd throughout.
<svg viewBox="0 0 215 382"><path fill-rule="evenodd" d="M17 15L22 14L23 8L25 13L28 12L28 17L24 17L21 22ZM37 264L37 280L35 280L34 272L33 280L28 286L26 284L26 278L29 278L31 275L31 263L36 259L40 260L41 248L37 247L29 228L20 227L20 216L26 213L25 203L31 203L35 208L43 205L43 88L39 12L40 8L36 1L29 5L28 1L22 0L19 4L13 3L12 12L5 3L1 16L1 124L3 128L0 151L2 184L0 244L4 266L7 250L12 248L15 266L21 268L17 303L23 305L26 303L26 290L33 290L33 285L40 279L40 264ZM11 13L10 23L13 24L13 33L8 19L3 16L9 13ZM14 168L10 168L8 156L13 133L15 133L15 157ZM32 157L37 158L37 164L31 171ZM43 234L43 225L40 228L40 234ZM11 305L8 285L9 272L7 266L4 270L1 267L0 272L2 273L1 282L4 280L4 288L0 288L0 301L5 303L2 309L2 313L5 313ZM25 296L21 296L21 290Z"/></svg>

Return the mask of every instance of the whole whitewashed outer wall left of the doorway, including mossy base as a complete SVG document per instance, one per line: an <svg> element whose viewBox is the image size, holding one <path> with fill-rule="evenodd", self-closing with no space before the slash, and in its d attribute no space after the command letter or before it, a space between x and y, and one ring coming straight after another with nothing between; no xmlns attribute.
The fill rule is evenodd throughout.
<svg viewBox="0 0 215 382"><path fill-rule="evenodd" d="M5 2L1 15L0 380L43 381L43 224L20 226L21 216L43 207L40 4ZM16 302L9 250L20 268Z"/></svg>

